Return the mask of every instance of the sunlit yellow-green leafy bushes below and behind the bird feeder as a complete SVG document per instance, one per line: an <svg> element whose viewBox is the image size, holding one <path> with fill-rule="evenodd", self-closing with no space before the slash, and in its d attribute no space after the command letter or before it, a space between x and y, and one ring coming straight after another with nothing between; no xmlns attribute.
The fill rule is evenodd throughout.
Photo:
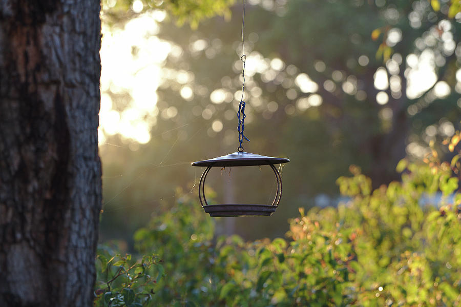
<svg viewBox="0 0 461 307"><path fill-rule="evenodd" d="M133 262L100 252L95 304L459 305L458 158L440 162L433 151L425 163L402 160L402 181L376 190L351 167L352 177L338 179L349 200L300 209L287 240L215 238L213 219L184 198L135 234L140 254L158 256Z"/></svg>

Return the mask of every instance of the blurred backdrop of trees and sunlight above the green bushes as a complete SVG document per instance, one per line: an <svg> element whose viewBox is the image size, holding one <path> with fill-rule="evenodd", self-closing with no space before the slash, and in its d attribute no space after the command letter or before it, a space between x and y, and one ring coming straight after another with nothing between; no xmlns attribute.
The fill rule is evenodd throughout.
<svg viewBox="0 0 461 307"><path fill-rule="evenodd" d="M102 239L130 242L151 215L197 193L191 161L237 149L243 4L183 4L103 2ZM185 13L194 6L200 14ZM406 154L424 158L431 141L452 136L459 21L448 1L248 0L245 151L291 162L273 217L219 219L218 233L280 236L298 207L336 202L349 165L376 187L399 179ZM270 197L264 169L228 172L211 174L215 201Z"/></svg>

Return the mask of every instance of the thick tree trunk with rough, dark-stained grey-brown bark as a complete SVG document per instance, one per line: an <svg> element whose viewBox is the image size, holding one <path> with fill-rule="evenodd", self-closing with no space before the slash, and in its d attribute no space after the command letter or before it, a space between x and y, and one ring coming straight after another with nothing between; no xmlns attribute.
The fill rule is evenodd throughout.
<svg viewBox="0 0 461 307"><path fill-rule="evenodd" d="M91 306L100 2L0 0L0 306Z"/></svg>

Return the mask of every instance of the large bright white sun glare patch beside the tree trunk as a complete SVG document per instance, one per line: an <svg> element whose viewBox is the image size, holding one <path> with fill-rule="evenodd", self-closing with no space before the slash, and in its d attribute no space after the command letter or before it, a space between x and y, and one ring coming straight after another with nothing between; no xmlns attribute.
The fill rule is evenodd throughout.
<svg viewBox="0 0 461 307"><path fill-rule="evenodd" d="M132 8L135 12L142 11L142 2L134 1ZM158 114L156 90L161 82L160 65L172 51L170 43L155 36L159 31L157 21L164 15L158 10L144 13L122 29L102 26L99 144L114 134L140 144L150 140L150 130ZM116 110L113 94L128 100L123 102L127 107L122 112Z"/></svg>

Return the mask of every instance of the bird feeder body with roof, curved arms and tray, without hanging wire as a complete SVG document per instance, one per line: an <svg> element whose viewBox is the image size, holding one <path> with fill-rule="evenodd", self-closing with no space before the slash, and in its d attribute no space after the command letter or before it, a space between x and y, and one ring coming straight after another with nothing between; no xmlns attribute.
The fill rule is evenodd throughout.
<svg viewBox="0 0 461 307"><path fill-rule="evenodd" d="M193 162L192 166L206 167L199 183L199 199L202 208L210 216L270 216L279 206L282 197L282 177L274 164L289 162L289 159L275 158L252 154L247 152L235 152L222 157ZM272 204L208 204L205 198L205 179L212 167L240 167L268 165L274 171L277 180L276 196Z"/></svg>

